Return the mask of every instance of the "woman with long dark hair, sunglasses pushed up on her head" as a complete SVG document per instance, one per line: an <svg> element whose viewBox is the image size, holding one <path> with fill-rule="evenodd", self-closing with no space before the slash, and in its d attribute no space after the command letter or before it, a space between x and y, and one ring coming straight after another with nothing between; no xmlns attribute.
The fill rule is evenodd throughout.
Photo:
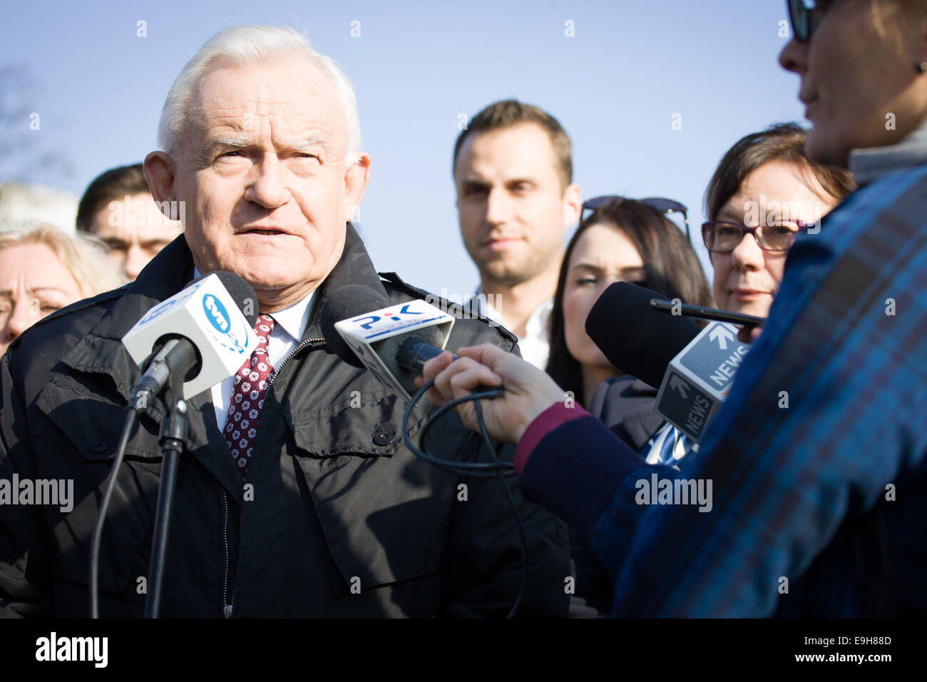
<svg viewBox="0 0 927 682"><path fill-rule="evenodd" d="M657 212L667 205L667 200L661 201L665 203L613 197L583 204L592 212L579 223L566 247L551 312L548 374L638 450L664 423L654 410L656 389L622 376L608 362L586 333L586 317L616 281L659 291L668 299L711 305L702 265L679 227ZM677 210L684 212L685 207L677 204ZM586 543L574 538L571 554L577 592L570 600L570 616L606 612L610 577Z"/></svg>

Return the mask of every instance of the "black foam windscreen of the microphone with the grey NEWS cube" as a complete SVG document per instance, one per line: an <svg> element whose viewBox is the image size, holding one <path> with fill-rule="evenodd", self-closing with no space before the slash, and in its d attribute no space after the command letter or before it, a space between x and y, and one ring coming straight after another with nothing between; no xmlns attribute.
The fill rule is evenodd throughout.
<svg viewBox="0 0 927 682"><path fill-rule="evenodd" d="M689 317L650 304L662 293L628 282L604 290L586 318L586 333L621 371L659 388L669 362L702 330Z"/></svg>

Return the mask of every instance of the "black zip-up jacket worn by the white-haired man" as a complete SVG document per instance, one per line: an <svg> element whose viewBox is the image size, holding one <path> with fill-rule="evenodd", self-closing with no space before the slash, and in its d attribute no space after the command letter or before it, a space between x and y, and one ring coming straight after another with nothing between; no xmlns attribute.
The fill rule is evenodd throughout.
<svg viewBox="0 0 927 682"><path fill-rule="evenodd" d="M393 302L425 294L377 276L354 228L347 230L303 339L268 393L250 486L216 426L210 392L189 401L190 450L174 500L163 616L504 616L517 596L521 552L502 483L459 479L414 457L400 436L404 402L324 344L319 312L339 286L363 284ZM70 513L0 505L0 615L88 614L90 538L140 376L120 340L192 276L190 251L177 238L133 284L45 318L4 356L0 479L14 472L20 480L73 479L74 495ZM448 347L487 341L514 349L514 337L482 319L457 320ZM430 409L425 401L413 412L413 431ZM141 418L108 509L99 564L104 617L144 613L160 417ZM437 457L487 461L480 442L452 414L429 433L427 447ZM512 457L511 446L497 451ZM520 612L565 615L565 525L510 484L528 544Z"/></svg>

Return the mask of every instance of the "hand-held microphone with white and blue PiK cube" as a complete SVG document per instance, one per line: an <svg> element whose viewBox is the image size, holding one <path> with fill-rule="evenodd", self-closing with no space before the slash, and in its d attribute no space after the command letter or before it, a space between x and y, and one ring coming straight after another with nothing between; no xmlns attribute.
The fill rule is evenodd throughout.
<svg viewBox="0 0 927 682"><path fill-rule="evenodd" d="M366 367L375 379L411 400L414 379L442 353L454 318L421 300L390 303L360 284L332 291L321 314L325 343L354 367Z"/></svg>

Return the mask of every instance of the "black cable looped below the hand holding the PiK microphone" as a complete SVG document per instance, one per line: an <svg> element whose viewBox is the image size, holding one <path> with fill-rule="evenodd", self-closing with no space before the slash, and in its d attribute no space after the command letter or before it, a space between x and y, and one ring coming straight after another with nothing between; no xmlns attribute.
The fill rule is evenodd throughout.
<svg viewBox="0 0 927 682"><path fill-rule="evenodd" d="M518 588L518 596L515 598L512 609L506 616L506 618L514 618L518 613L518 610L521 608L522 600L525 597L525 586L527 585L527 534L525 533L525 525L522 523L521 516L518 514L518 506L515 503L514 495L512 495L512 489L505 481L505 479L516 475L514 465L499 460L499 456L496 454L495 448L492 447L492 441L489 438L489 431L486 429L486 423L483 421L483 408L479 404L479 401L484 398L499 397L504 392L504 389L502 389L502 387L497 387L485 391L471 393L470 395L464 395L462 398L456 398L451 400L451 402L447 403L446 405L441 405L438 407L437 410L435 410L431 415L428 416L427 419L425 419L425 424L422 426L422 431L419 435L419 444L421 444L421 449L419 449L413 445L412 438L409 435L409 418L412 415L412 411L415 405L418 404L418 402L425 395L425 392L427 392L428 389L434 385L434 383L434 379L425 382L425 385L422 386L422 388L420 388L418 392L415 393L415 395L413 395L412 400L409 401L409 405L406 405L405 411L402 413L402 442L413 452L413 455L435 465L438 467L438 469L456 473L459 476L468 478L497 479L499 483L502 483L502 487L505 488L505 495L508 497L509 504L512 506L512 511L515 515L515 521L518 527L518 541L519 545L521 546L521 585ZM455 462L448 459L438 459L438 457L432 457L427 452L425 452L425 436L427 435L428 430L431 429L432 425L434 425L438 418L445 415L454 407L466 403L467 401L474 401L474 407L476 408L476 421L479 424L479 431L483 436L483 444L485 444L489 450L489 457L492 457L492 461Z"/></svg>

